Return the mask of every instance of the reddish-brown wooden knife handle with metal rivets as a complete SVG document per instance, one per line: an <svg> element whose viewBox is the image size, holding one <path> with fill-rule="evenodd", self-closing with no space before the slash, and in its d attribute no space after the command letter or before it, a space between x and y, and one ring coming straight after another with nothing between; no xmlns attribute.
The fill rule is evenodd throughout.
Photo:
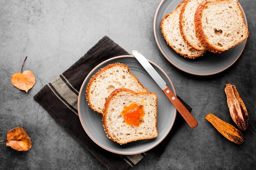
<svg viewBox="0 0 256 170"><path fill-rule="evenodd" d="M178 112L182 115L182 117L185 119L185 121L189 124L191 128L195 128L198 126L198 122L196 121L195 117L191 115L189 110L186 109L186 107L180 102L180 100L174 95L174 93L171 91L170 88L166 86L162 90L164 94L168 97L168 99L172 102L174 107L178 110Z"/></svg>

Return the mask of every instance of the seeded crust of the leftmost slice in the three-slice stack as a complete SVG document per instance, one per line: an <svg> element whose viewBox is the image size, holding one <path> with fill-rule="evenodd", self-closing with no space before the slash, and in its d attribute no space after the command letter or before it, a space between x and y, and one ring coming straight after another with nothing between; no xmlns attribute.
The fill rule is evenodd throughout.
<svg viewBox="0 0 256 170"><path fill-rule="evenodd" d="M187 54L185 54L185 53L181 53L180 51L177 51L177 50L174 48L174 46L167 40L166 35L165 35L164 32L163 32L163 23L164 23L164 20L166 20L166 18L167 18L169 15L171 15L172 13L175 13L175 12L179 9L179 7L184 4L184 2L186 2L186 0L183 0L182 2L180 2L180 4L178 4L178 6L175 8L174 11L172 11L171 13L168 13L167 15L164 16L164 18L162 19L160 28L161 28L161 33L162 33L162 35L163 35L163 37L164 37L164 40L166 41L166 43L167 43L176 53L180 54L180 55L183 56L183 57L194 59L195 57L200 57L200 56L202 56L202 55L205 53L205 51L204 51L204 53L202 53L202 55L195 55L195 56L189 56L189 55L187 55Z"/></svg>

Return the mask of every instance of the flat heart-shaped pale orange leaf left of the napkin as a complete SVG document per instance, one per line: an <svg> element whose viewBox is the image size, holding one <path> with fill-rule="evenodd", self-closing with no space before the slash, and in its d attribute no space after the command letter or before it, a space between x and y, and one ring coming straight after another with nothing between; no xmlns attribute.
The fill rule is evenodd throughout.
<svg viewBox="0 0 256 170"><path fill-rule="evenodd" d="M28 92L36 83L34 74L26 70L23 73L15 73L11 76L11 84L20 90Z"/></svg>

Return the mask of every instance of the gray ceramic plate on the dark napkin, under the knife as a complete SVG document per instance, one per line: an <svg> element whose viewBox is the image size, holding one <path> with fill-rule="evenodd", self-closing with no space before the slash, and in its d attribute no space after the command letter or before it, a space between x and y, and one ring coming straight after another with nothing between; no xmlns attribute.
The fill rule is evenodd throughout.
<svg viewBox="0 0 256 170"><path fill-rule="evenodd" d="M86 86L90 78L99 71L100 68L107 66L112 63L123 63L129 66L130 71L134 74L141 84L148 89L148 91L155 92L157 94L157 129L158 136L155 139L147 139L134 141L125 145L120 145L114 141L108 139L106 133L102 126L102 115L93 111L86 101L85 91ZM156 64L150 62L156 71L161 75L161 77L167 83L167 86L175 93L173 84L169 79L168 75ZM78 97L78 113L81 124L87 133L87 135L102 148L122 154L122 155L132 155L150 150L151 148L157 146L171 130L176 117L176 109L167 99L167 97L162 92L161 88L154 82L154 80L148 75L145 69L137 62L137 60L131 55L124 55L119 57L113 57L105 62L102 62L97 67L95 67L85 78L83 85L79 91Z"/></svg>

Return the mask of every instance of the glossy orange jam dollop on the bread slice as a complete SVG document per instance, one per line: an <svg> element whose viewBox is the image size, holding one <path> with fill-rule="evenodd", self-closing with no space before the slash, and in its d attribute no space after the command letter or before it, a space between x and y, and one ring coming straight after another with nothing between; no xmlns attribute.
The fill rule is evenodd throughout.
<svg viewBox="0 0 256 170"><path fill-rule="evenodd" d="M142 117L145 115L145 112L143 106L132 103L128 106L124 106L121 115L124 117L126 124L138 127L140 122L143 121Z"/></svg>

